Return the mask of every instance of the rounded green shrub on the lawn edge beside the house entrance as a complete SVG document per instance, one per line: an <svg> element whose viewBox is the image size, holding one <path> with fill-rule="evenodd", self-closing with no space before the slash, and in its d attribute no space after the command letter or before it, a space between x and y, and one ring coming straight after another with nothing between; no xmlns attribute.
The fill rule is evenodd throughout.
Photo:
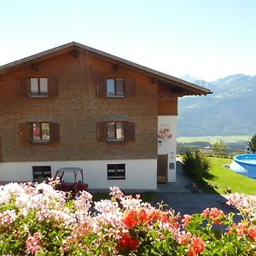
<svg viewBox="0 0 256 256"><path fill-rule="evenodd" d="M183 171L189 177L200 180L210 170L210 162L203 152L187 152L183 155Z"/></svg>

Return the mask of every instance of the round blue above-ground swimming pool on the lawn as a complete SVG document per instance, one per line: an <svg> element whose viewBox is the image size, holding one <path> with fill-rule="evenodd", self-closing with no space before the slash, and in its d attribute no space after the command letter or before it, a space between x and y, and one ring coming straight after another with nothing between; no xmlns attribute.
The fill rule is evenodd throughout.
<svg viewBox="0 0 256 256"><path fill-rule="evenodd" d="M256 178L256 154L236 155L230 169L247 177Z"/></svg>

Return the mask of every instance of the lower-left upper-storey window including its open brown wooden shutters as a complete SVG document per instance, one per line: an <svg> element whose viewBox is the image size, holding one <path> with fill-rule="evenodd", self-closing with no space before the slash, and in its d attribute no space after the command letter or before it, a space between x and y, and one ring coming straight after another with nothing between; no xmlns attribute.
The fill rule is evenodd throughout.
<svg viewBox="0 0 256 256"><path fill-rule="evenodd" d="M20 143L55 143L60 141L59 123L33 122L20 124Z"/></svg>

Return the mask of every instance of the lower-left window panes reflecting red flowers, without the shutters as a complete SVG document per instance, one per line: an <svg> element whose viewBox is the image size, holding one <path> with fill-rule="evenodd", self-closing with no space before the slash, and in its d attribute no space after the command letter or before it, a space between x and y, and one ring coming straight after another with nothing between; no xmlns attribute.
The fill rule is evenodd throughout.
<svg viewBox="0 0 256 256"><path fill-rule="evenodd" d="M32 123L32 141L49 142L49 123Z"/></svg>

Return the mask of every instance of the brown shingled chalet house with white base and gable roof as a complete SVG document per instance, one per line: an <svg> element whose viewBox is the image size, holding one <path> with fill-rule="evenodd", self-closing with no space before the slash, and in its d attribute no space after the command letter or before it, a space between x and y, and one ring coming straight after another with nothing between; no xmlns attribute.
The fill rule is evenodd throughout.
<svg viewBox="0 0 256 256"><path fill-rule="evenodd" d="M177 98L210 90L83 44L0 67L0 180L65 166L90 189L176 180Z"/></svg>

